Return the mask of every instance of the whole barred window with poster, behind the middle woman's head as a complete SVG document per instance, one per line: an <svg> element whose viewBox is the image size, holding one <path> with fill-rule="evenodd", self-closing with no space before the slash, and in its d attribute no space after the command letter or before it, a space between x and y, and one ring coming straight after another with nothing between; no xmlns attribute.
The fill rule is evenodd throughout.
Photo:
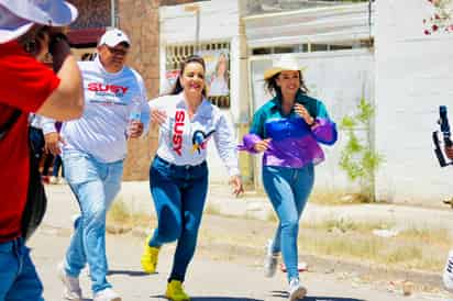
<svg viewBox="0 0 453 301"><path fill-rule="evenodd" d="M206 81L208 99L219 108L230 108L230 43L201 43L166 46L166 79L173 87L181 62L188 56L198 54L206 63Z"/></svg>

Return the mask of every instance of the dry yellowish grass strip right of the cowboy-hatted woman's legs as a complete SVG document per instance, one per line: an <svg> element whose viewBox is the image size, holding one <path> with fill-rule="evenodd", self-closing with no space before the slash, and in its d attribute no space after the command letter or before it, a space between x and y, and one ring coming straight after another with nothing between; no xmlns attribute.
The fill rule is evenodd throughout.
<svg viewBox="0 0 453 301"><path fill-rule="evenodd" d="M385 267L439 271L453 237L444 228L408 228L394 237L379 237L373 230L391 230L386 222L328 220L303 224L299 234L302 250ZM318 234L313 234L318 233Z"/></svg>

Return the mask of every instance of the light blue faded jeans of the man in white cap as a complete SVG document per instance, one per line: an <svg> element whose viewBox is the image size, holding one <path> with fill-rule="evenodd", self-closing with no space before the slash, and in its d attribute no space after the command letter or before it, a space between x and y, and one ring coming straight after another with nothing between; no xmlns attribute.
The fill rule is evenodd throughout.
<svg viewBox="0 0 453 301"><path fill-rule="evenodd" d="M121 188L123 161L100 163L88 154L71 150L63 154L63 164L81 214L74 224L65 269L69 276L78 277L88 263L96 293L111 288L107 281L106 215Z"/></svg>

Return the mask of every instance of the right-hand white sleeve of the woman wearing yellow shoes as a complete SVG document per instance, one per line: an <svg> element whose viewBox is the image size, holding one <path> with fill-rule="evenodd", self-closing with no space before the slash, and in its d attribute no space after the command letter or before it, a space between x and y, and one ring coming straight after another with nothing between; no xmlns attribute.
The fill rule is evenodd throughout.
<svg viewBox="0 0 453 301"><path fill-rule="evenodd" d="M226 118L218 111L219 121L216 125L216 132L213 134L216 147L220 158L223 160L228 172L231 176L239 176L237 164L237 146L232 127L226 121Z"/></svg>

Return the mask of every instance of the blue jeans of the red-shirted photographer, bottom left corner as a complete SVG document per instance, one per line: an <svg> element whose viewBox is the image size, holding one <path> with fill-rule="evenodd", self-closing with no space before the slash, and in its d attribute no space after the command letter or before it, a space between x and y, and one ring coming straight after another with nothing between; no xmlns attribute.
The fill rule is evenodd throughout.
<svg viewBox="0 0 453 301"><path fill-rule="evenodd" d="M22 238L0 243L0 300L43 301L43 285Z"/></svg>

